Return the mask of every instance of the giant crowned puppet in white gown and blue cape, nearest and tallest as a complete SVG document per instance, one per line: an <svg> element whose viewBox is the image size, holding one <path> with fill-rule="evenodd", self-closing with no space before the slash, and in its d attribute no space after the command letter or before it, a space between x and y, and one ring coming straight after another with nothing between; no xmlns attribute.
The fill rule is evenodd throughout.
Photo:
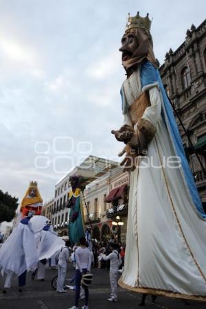
<svg viewBox="0 0 206 309"><path fill-rule="evenodd" d="M154 295L206 300L206 215L152 50L150 19L128 16L122 37L124 126L130 171L124 273L119 284Z"/></svg>

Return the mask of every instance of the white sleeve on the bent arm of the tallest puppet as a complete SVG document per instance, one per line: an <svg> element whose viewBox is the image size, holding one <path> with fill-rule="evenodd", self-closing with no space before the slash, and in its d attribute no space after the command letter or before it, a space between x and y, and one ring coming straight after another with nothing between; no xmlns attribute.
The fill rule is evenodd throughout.
<svg viewBox="0 0 206 309"><path fill-rule="evenodd" d="M152 87L149 89L151 106L144 111L142 118L157 126L161 115L161 93L159 87Z"/></svg>

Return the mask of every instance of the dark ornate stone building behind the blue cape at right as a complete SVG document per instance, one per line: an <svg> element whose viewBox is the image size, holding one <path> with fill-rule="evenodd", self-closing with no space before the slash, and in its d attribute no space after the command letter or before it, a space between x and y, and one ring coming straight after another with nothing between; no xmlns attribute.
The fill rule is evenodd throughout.
<svg viewBox="0 0 206 309"><path fill-rule="evenodd" d="M183 44L175 52L170 49L159 71L179 115L174 112L206 210L206 20L187 30Z"/></svg>

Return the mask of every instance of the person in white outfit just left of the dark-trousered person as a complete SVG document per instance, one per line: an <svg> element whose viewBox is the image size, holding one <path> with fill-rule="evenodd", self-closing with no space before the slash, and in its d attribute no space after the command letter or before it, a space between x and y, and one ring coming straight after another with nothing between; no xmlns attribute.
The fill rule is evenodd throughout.
<svg viewBox="0 0 206 309"><path fill-rule="evenodd" d="M71 246L71 242L67 240L65 242L65 247L60 249L59 257L58 257L58 279L56 284L56 292L57 293L65 293L64 289L65 277L67 273L67 262L69 262L69 247Z"/></svg>

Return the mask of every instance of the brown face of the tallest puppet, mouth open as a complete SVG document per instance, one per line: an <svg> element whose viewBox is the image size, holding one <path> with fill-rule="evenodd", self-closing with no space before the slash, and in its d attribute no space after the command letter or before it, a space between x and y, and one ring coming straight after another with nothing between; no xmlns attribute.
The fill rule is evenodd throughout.
<svg viewBox="0 0 206 309"><path fill-rule="evenodd" d="M137 42L137 36L133 33L126 33L122 37L122 47L119 48L119 52L122 52L122 62L133 58L139 44Z"/></svg>

